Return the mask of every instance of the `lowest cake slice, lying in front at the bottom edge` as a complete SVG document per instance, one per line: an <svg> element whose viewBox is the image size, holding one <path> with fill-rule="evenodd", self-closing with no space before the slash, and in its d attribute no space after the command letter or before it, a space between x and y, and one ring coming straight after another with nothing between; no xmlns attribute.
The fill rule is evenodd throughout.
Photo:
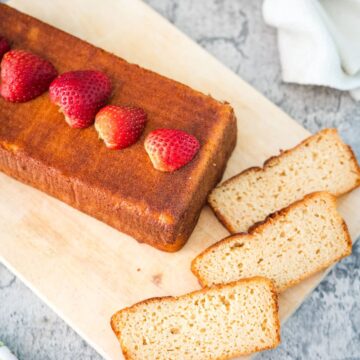
<svg viewBox="0 0 360 360"><path fill-rule="evenodd" d="M260 277L145 300L116 313L111 326L132 360L228 359L280 342L277 295Z"/></svg>

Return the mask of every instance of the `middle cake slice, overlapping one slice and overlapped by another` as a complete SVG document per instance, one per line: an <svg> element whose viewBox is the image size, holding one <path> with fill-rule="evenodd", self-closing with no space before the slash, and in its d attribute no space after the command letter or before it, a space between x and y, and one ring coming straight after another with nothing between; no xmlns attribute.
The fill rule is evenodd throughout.
<svg viewBox="0 0 360 360"><path fill-rule="evenodd" d="M283 291L350 255L351 245L336 198L319 192L269 216L248 234L216 243L191 268L203 286L266 276Z"/></svg>

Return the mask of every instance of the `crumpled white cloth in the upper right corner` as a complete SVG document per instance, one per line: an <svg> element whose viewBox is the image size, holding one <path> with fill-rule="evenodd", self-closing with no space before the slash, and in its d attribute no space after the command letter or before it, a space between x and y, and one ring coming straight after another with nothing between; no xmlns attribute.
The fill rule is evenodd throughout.
<svg viewBox="0 0 360 360"><path fill-rule="evenodd" d="M360 100L360 0L264 0L285 82L350 90Z"/></svg>

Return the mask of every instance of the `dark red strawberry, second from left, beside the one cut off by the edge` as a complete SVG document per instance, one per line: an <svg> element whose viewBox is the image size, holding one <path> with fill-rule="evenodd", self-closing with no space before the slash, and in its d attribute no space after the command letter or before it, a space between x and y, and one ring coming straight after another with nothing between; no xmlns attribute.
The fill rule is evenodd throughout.
<svg viewBox="0 0 360 360"><path fill-rule="evenodd" d="M1 95L25 102L47 91L57 71L47 60L24 50L7 52L1 62Z"/></svg>

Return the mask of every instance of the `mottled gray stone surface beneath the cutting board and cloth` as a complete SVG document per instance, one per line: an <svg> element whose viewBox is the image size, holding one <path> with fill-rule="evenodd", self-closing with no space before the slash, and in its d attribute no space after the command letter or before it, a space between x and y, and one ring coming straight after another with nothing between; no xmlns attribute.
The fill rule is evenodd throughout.
<svg viewBox="0 0 360 360"><path fill-rule="evenodd" d="M360 104L347 93L281 82L276 34L263 23L260 0L147 2L309 130L339 128L360 156ZM258 359L360 359L359 300L360 241L282 328L281 346ZM22 360L101 359L1 265L0 340Z"/></svg>

